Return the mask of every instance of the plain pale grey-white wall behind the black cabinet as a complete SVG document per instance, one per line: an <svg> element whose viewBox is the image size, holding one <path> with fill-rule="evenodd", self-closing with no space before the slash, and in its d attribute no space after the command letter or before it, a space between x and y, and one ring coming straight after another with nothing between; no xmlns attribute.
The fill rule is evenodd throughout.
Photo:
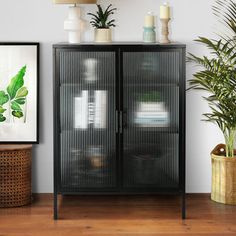
<svg viewBox="0 0 236 236"><path fill-rule="evenodd" d="M101 0L100 0L101 1ZM114 30L116 41L142 40L143 18L147 11L158 13L161 0L103 0L118 8ZM213 0L170 0L173 7L171 38L187 44L187 51L198 54L205 49L193 43L199 35L212 36L216 32L215 18L211 13ZM86 11L94 10L88 6ZM0 1L0 41L39 41L41 43L40 69L40 144L33 151L33 191L53 191L53 95L52 95L52 44L66 41L63 21L67 6L54 5L52 0ZM158 22L158 36L160 24ZM92 40L92 30L86 40ZM187 66L187 78L193 68ZM187 92L187 191L210 192L211 165L209 153L215 144L222 142L218 129L201 122L201 114L208 110L201 94Z"/></svg>

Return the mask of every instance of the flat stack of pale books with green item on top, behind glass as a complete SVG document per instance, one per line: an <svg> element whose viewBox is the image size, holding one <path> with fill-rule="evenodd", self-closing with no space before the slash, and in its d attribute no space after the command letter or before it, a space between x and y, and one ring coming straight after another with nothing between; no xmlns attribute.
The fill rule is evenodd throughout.
<svg viewBox="0 0 236 236"><path fill-rule="evenodd" d="M157 91L143 93L138 96L134 123L140 127L167 127L169 111Z"/></svg>

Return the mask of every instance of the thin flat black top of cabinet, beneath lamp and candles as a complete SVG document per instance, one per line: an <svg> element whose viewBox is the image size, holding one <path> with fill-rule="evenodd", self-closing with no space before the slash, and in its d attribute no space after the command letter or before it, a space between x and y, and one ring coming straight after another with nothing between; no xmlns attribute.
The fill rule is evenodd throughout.
<svg viewBox="0 0 236 236"><path fill-rule="evenodd" d="M178 48L185 48L186 45L178 42L172 42L169 44L161 44L161 43L144 43L144 42L112 42L112 43L94 43L94 42L83 42L79 44L72 44L72 43L57 43L54 44L54 48L76 48L81 46L92 46L92 47L107 47L107 46L151 46L151 47L178 47Z"/></svg>

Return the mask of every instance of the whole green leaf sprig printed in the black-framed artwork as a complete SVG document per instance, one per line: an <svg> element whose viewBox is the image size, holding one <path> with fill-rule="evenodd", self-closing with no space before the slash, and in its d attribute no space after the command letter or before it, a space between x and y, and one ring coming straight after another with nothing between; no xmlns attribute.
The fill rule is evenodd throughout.
<svg viewBox="0 0 236 236"><path fill-rule="evenodd" d="M24 76L26 73L26 66L23 66L20 71L11 79L7 86L6 92L0 91L0 122L4 122L6 117L4 113L7 111L3 106L9 103L9 109L12 116L21 118L24 116L22 105L26 102L28 90L24 85Z"/></svg>

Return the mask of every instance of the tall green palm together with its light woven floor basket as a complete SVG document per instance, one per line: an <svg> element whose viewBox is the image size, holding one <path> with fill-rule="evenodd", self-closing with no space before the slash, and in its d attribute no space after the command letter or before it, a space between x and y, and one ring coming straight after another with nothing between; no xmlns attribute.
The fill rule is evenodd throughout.
<svg viewBox="0 0 236 236"><path fill-rule="evenodd" d="M211 199L225 204L236 204L236 2L216 0L214 14L227 28L227 35L218 39L199 37L211 56L190 54L188 60L201 66L190 80L190 89L209 93L204 99L211 112L204 114L205 121L218 125L225 144L217 145L211 152Z"/></svg>

